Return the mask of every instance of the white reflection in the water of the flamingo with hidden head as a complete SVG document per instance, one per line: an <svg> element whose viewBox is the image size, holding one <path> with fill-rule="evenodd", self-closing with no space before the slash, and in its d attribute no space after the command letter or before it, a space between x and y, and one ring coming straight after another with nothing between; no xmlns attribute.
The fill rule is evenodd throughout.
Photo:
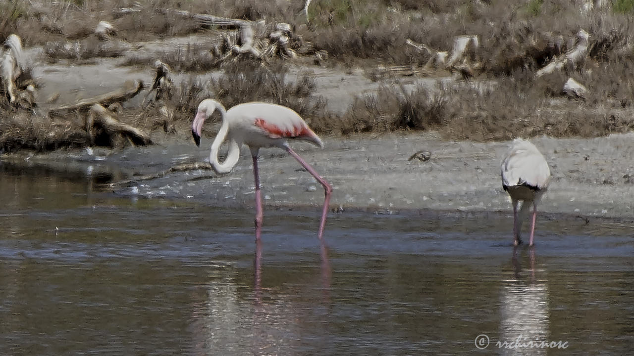
<svg viewBox="0 0 634 356"><path fill-rule="evenodd" d="M500 348L502 355L546 355L547 352L547 348L529 346L530 341L539 344L548 340L549 321L547 284L536 278L534 249L531 248L528 253L529 275L522 273L515 248L514 277L504 281L501 288L499 341L503 343ZM522 344L529 345L522 347Z"/></svg>

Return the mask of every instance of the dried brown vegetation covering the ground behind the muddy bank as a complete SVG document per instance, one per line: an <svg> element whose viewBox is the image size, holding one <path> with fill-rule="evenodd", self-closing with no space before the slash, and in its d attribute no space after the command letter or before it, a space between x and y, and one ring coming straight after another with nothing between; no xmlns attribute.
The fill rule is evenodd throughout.
<svg viewBox="0 0 634 356"><path fill-rule="evenodd" d="M303 3L5 1L0 3L0 13L6 14L0 19L0 40L15 33L26 47L42 46L46 61L81 63L121 56L135 42L157 37L196 32L204 32L210 42L223 37L223 29L201 27L178 13L189 11L288 23L297 35L291 39L296 48L310 43L310 53L328 54L321 65L404 66L413 68L409 75L458 79L436 87L386 82L376 94L356 98L346 113L334 117L315 92L314 80L290 75L283 60L236 56L220 66L218 57L211 55L211 43L190 43L156 58L121 60L122 65L148 67L159 59L183 73L217 68L224 72L204 80L179 80L168 97L117 114L150 132L174 132L208 97L227 107L253 100L280 103L301 113L317 132L330 134L438 130L448 139L486 141L541 134L593 137L634 127L628 115L634 98L631 1L313 0L307 16ZM106 39L96 35L100 21L112 23L117 32ZM578 48L580 30L589 34L588 46L582 60L573 63L566 55ZM437 53L451 54L456 37L464 35L478 39L469 62L429 67ZM561 65L556 70L538 72L557 60ZM563 92L571 79L585 87L583 94ZM68 124L84 120L79 114L67 122L51 121L37 110L16 108L3 100L0 115L11 118L0 122L3 149L54 149L92 142L89 132Z"/></svg>

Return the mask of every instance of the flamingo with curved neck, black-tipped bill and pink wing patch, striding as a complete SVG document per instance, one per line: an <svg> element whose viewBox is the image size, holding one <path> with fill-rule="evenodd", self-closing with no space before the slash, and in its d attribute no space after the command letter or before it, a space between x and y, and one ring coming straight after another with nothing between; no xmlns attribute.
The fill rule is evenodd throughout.
<svg viewBox="0 0 634 356"><path fill-rule="evenodd" d="M287 139L301 139L323 148L323 142L306 122L294 110L286 106L269 103L243 103L225 110L221 103L213 99L205 99L198 105L196 117L191 124L191 134L197 146L200 146L200 134L205 119L214 110L220 111L223 124L218 131L216 139L211 144L209 162L217 173L228 173L238 163L240 158L240 146L246 144L251 150L253 158L253 175L256 181L256 243L259 246L262 228L262 196L260 191L260 178L257 172L257 155L259 149L264 147L279 147L285 149L297 162L321 183L325 192L319 238L323 238L323 229L326 224L328 203L332 186L306 163L301 156L288 146ZM218 150L224 139L229 140L229 152L223 163L218 162ZM323 240L322 240L323 241ZM258 248L259 251L259 248ZM256 255L256 258L259 256Z"/></svg>

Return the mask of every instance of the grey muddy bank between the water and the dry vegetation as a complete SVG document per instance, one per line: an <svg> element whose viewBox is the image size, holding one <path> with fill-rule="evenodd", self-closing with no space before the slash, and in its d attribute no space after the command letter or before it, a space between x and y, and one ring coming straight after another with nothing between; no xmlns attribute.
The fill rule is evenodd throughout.
<svg viewBox="0 0 634 356"><path fill-rule="evenodd" d="M547 158L553 175L540 205L541 212L631 219L633 139L634 134L596 139L533 139ZM212 137L204 137L197 148L190 137L179 135L146 148L58 151L29 155L24 162L63 165L72 160L74 167L84 165L86 174L105 169L115 179L132 178L128 184L102 186L117 194L183 199L214 207L252 207L254 184L247 148L242 149L241 160L230 174L219 176L210 170L193 170L158 179L138 179L175 165L207 160L211 140ZM510 213L499 176L500 158L507 142L448 142L432 133L325 137L324 141L323 150L304 143L293 146L332 183L333 210ZM408 160L421 149L430 151L432 158L426 162ZM8 157L14 164L23 159L20 155L5 155L3 159ZM266 207L318 209L323 190L311 175L299 169L294 158L279 149L262 149L261 160ZM112 174L113 167L122 173Z"/></svg>

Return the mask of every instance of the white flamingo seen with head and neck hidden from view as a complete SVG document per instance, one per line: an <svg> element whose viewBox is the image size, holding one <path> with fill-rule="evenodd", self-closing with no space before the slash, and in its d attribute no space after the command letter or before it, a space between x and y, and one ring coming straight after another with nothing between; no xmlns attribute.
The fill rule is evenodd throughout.
<svg viewBox="0 0 634 356"><path fill-rule="evenodd" d="M513 204L513 236L514 245L522 243L520 230L522 220L526 217L530 205L533 205L533 224L531 225L531 239L529 246L533 246L535 220L537 219L537 204L548 188L550 182L550 168L548 162L539 149L529 141L515 139L502 160L501 165L502 188L507 191ZM522 201L519 216L517 203Z"/></svg>

